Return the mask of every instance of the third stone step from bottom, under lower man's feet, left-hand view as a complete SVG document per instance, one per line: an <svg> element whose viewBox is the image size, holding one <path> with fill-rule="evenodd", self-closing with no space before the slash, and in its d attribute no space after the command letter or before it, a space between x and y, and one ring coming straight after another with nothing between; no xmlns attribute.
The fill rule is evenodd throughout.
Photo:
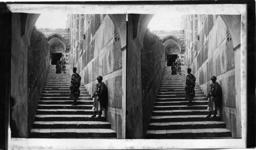
<svg viewBox="0 0 256 150"><path fill-rule="evenodd" d="M100 118L92 118L91 116L92 115L36 115L35 121L106 121L105 116L101 116Z"/></svg>

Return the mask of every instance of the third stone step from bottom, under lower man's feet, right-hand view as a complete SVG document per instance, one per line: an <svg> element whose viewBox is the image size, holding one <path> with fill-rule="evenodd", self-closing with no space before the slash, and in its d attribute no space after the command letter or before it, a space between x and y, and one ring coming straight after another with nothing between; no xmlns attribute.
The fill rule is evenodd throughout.
<svg viewBox="0 0 256 150"><path fill-rule="evenodd" d="M220 116L216 118L206 115L176 115L176 116L152 116L151 122L188 122L188 121L221 121Z"/></svg>

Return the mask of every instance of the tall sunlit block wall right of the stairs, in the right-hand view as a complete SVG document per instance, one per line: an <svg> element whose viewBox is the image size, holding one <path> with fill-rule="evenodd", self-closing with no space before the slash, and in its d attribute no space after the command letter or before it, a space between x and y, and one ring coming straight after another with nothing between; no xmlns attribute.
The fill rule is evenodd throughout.
<svg viewBox="0 0 256 150"><path fill-rule="evenodd" d="M205 94L210 77L217 76L223 95L222 120L232 137L241 138L241 101L236 101L235 86L235 61L240 59L234 57L231 34L219 15L185 15L183 21L186 67L192 69Z"/></svg>

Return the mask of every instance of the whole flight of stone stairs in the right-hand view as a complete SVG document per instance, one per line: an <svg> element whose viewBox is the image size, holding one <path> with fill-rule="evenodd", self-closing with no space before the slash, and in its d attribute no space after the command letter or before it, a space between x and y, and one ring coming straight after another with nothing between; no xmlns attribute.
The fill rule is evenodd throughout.
<svg viewBox="0 0 256 150"><path fill-rule="evenodd" d="M206 118L208 100L198 84L193 106L186 106L186 70L182 69L182 75L171 73L170 67L165 67L146 138L231 138L220 116Z"/></svg>

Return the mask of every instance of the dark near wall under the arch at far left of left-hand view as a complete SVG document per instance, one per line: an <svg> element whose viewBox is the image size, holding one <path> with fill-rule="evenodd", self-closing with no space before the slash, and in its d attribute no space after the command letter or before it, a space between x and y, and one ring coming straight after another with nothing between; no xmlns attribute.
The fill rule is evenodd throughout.
<svg viewBox="0 0 256 150"><path fill-rule="evenodd" d="M10 120L17 129L15 136L28 137L28 51L20 37L21 20L19 13L12 15L12 55L11 55L11 97L14 106L11 108ZM11 128L14 131L14 128Z"/></svg>

